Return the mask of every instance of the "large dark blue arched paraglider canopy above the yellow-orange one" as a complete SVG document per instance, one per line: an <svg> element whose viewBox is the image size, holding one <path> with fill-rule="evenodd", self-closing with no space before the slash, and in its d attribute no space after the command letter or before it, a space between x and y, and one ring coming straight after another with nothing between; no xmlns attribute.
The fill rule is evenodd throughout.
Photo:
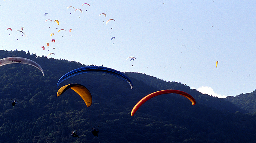
<svg viewBox="0 0 256 143"><path fill-rule="evenodd" d="M77 68L74 69L70 72L68 72L67 74L63 75L58 83L57 83L57 87L59 86L59 84L61 84L61 82L65 81L68 78L74 77L76 75L80 75L80 74L84 74L84 73L88 73L88 72L103 72L105 74L110 74L110 75L114 75L115 77L118 77L120 79L122 79L123 81L127 82L131 89L133 88L132 85L132 81L123 73L116 71L115 69L111 69L111 68L106 68L106 67L102 67L102 66L84 66L81 68Z"/></svg>

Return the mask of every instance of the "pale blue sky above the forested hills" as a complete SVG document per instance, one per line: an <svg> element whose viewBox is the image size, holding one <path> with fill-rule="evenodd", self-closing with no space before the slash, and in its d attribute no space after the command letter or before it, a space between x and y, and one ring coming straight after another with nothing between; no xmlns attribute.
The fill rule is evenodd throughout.
<svg viewBox="0 0 256 143"><path fill-rule="evenodd" d="M55 53L48 58L144 73L223 98L256 89L255 7L255 0L1 0L0 49ZM26 36L16 32L21 27Z"/></svg>

